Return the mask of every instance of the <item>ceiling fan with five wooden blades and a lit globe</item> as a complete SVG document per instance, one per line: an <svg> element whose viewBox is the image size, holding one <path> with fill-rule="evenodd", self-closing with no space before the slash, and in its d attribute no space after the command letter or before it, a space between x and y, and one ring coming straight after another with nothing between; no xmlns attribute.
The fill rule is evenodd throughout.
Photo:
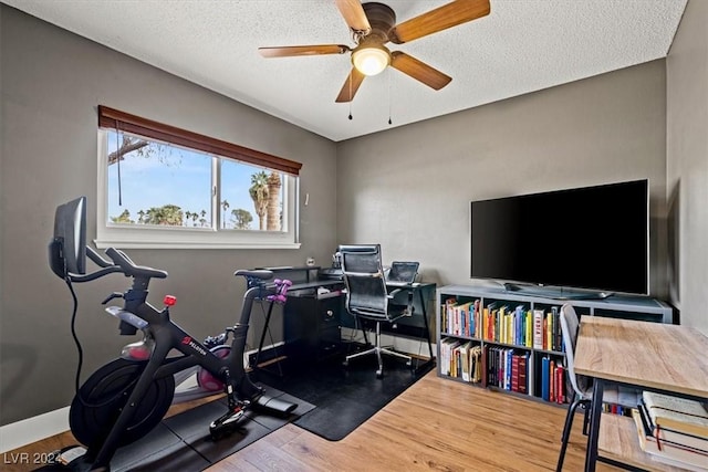
<svg viewBox="0 0 708 472"><path fill-rule="evenodd" d="M367 75L376 75L391 65L437 90L452 77L402 51L384 44L403 44L489 14L489 0L455 0L416 18L396 24L396 13L384 3L335 0L352 31L355 48L344 44L316 44L259 48L263 57L352 53L352 71L335 102L351 102Z"/></svg>

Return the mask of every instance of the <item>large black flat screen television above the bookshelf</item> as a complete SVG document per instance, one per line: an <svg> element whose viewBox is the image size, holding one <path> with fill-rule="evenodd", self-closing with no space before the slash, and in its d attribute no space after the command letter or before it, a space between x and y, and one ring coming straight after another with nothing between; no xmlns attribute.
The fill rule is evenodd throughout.
<svg viewBox="0 0 708 472"><path fill-rule="evenodd" d="M472 201L470 218L472 279L648 294L647 180Z"/></svg>

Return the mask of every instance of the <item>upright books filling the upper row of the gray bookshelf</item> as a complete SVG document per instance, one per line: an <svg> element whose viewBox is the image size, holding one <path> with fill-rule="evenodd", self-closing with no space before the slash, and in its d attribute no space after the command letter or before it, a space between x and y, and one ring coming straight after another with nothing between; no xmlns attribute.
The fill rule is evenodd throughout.
<svg viewBox="0 0 708 472"><path fill-rule="evenodd" d="M527 310L500 302L481 306L479 300L449 298L440 307L446 334L510 344L534 349L564 352L559 308Z"/></svg>

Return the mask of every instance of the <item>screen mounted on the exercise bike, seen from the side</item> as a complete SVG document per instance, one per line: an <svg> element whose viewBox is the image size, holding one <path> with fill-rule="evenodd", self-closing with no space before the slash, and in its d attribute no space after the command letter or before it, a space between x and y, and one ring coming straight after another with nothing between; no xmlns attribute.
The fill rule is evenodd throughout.
<svg viewBox="0 0 708 472"><path fill-rule="evenodd" d="M86 197L56 207L49 264L61 279L86 273Z"/></svg>

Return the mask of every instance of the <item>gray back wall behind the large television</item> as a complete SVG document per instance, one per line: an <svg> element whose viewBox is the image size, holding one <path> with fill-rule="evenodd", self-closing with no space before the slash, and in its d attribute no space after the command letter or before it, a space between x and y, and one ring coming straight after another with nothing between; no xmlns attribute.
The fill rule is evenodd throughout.
<svg viewBox="0 0 708 472"><path fill-rule="evenodd" d="M650 290L665 297L665 130L659 60L340 143L337 237L469 284L470 200L648 178Z"/></svg>

